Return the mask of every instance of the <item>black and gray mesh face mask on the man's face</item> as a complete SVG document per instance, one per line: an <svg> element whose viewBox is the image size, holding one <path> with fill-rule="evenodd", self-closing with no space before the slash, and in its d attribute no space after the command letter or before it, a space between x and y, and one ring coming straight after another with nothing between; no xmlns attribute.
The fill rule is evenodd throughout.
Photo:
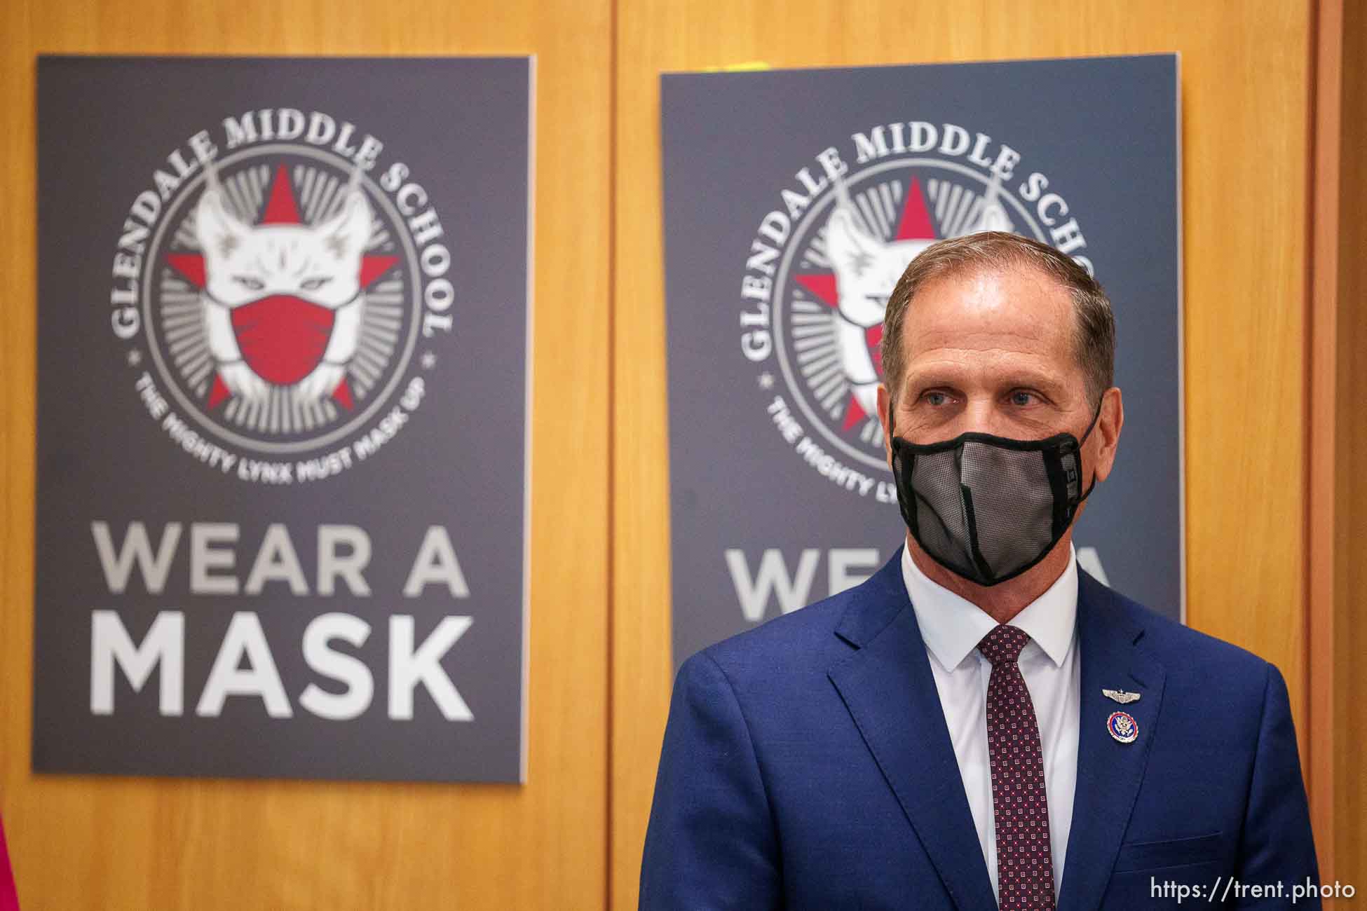
<svg viewBox="0 0 1367 911"><path fill-rule="evenodd" d="M1083 490L1083 438L1059 433L1010 440L964 433L916 445L893 437L897 503L912 537L935 563L969 582L992 586L1043 560L1068 531ZM889 434L893 415L889 411Z"/></svg>

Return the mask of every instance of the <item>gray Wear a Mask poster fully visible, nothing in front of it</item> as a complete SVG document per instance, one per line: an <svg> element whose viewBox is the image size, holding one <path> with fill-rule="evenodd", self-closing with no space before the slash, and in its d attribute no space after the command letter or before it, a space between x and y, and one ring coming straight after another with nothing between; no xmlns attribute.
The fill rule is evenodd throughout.
<svg viewBox="0 0 1367 911"><path fill-rule="evenodd" d="M532 61L38 61L33 768L525 779Z"/></svg>

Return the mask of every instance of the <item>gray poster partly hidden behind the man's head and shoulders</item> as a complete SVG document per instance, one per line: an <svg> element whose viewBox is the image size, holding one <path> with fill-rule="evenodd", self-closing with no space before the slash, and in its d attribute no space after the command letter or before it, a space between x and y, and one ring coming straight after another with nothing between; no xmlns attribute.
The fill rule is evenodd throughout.
<svg viewBox="0 0 1367 911"><path fill-rule="evenodd" d="M1110 295L1125 434L1074 544L1181 616L1176 56L666 75L662 108L675 665L897 549L882 309L983 229ZM875 268L842 275L852 250Z"/></svg>

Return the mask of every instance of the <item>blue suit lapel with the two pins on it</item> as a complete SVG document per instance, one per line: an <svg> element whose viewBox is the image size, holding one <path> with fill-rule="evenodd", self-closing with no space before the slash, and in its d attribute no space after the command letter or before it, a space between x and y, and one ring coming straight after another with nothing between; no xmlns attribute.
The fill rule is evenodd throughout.
<svg viewBox="0 0 1367 911"><path fill-rule="evenodd" d="M1144 779L1163 699L1163 665L1136 645L1143 628L1121 612L1109 589L1081 571L1077 624L1083 662L1077 789L1059 911L1102 904ZM1137 691L1140 699L1118 705L1102 695L1103 688ZM1111 738L1106 723L1113 712L1135 718L1139 736L1133 743Z"/></svg>

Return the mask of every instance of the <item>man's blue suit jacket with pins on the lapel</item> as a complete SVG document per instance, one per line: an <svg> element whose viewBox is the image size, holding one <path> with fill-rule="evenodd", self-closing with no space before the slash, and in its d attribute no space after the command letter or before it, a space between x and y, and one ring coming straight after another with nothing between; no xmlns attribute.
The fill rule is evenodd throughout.
<svg viewBox="0 0 1367 911"><path fill-rule="evenodd" d="M1077 791L1059 911L1290 907L1318 884L1277 668L1079 582ZM1141 694L1129 744L1102 688ZM1236 901L1241 884L1282 899ZM1218 880L1217 880L1218 878ZM1166 884L1172 882L1172 886ZM1166 893L1165 893L1166 889ZM679 669L642 908L995 908L901 550ZM1297 908L1318 908L1300 900Z"/></svg>

